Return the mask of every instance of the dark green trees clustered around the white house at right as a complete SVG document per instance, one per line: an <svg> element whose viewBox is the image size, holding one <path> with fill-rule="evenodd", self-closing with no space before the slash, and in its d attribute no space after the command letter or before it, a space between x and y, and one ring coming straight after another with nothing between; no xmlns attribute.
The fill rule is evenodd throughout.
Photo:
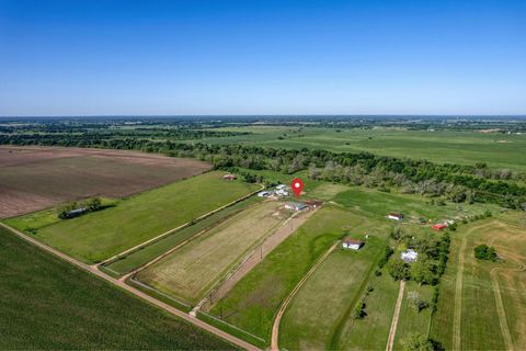
<svg viewBox="0 0 526 351"><path fill-rule="evenodd" d="M439 239L416 239L395 229L391 238L402 250L408 247L414 249L419 252L419 257L411 264L400 257L393 257L387 264L389 274L395 280L413 280L419 284L436 285L446 270L449 258L449 235L445 233Z"/></svg>

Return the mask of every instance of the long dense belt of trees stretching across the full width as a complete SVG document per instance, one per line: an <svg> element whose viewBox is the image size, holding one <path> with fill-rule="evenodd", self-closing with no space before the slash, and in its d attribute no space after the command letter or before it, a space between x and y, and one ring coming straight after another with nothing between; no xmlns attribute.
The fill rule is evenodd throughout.
<svg viewBox="0 0 526 351"><path fill-rule="evenodd" d="M137 138L103 139L83 135L1 135L0 144L138 149L199 158L211 162L216 168L241 167L283 173L308 169L311 179L380 189L398 186L408 193L444 196L457 203L493 202L511 208L526 210L525 186L485 178L484 174L477 173L480 168L474 166L437 165L426 160L376 156L368 152L338 154L307 148L290 150Z"/></svg>

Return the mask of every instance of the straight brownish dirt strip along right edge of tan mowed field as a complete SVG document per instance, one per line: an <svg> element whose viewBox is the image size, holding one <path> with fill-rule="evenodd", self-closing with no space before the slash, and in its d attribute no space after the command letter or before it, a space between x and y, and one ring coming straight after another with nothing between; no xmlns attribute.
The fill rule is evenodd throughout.
<svg viewBox="0 0 526 351"><path fill-rule="evenodd" d="M318 207L320 208L320 207ZM295 213L290 218L285 220L275 233L258 248L250 258L232 274L218 286L214 293L214 299L218 301L224 297L244 275L247 275L258 263L272 252L279 244L288 238L297 228L299 228L307 219L309 219L317 211L308 211L305 213ZM206 307L210 307L207 305Z"/></svg>

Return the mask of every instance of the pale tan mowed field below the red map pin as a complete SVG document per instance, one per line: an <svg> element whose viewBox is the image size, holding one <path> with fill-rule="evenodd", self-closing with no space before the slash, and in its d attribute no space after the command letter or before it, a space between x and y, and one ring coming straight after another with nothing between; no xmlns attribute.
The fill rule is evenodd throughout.
<svg viewBox="0 0 526 351"><path fill-rule="evenodd" d="M290 213L263 202L213 227L138 273L138 279L174 297L196 304L232 265Z"/></svg>

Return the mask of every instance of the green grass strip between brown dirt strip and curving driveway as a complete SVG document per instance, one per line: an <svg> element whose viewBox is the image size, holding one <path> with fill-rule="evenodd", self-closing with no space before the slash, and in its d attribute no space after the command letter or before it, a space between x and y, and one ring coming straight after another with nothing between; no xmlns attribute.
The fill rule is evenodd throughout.
<svg viewBox="0 0 526 351"><path fill-rule="evenodd" d="M325 205L274 249L220 299L211 313L270 340L274 314L311 265L356 216Z"/></svg>

